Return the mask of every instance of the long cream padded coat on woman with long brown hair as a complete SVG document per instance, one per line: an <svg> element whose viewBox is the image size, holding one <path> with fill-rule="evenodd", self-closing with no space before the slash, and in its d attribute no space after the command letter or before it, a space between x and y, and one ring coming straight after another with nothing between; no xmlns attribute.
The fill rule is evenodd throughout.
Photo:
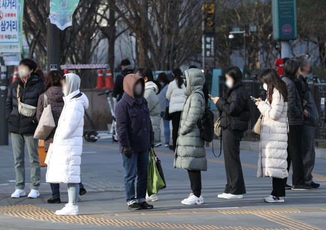
<svg viewBox="0 0 326 230"><path fill-rule="evenodd" d="M280 92L274 89L271 104L262 101L258 104L263 114L259 144L257 177L288 177L287 168L287 102Z"/></svg>

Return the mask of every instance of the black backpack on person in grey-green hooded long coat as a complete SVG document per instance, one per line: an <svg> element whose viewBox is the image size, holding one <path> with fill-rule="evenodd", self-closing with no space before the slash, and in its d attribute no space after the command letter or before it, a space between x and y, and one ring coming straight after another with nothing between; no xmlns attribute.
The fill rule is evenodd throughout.
<svg viewBox="0 0 326 230"><path fill-rule="evenodd" d="M202 95L199 92L195 92L195 93ZM204 98L203 95L202 97ZM205 104L204 118L200 121L198 120L197 126L200 131L200 137L207 142L212 142L214 136L214 113L210 110L210 107L206 107L206 104Z"/></svg>

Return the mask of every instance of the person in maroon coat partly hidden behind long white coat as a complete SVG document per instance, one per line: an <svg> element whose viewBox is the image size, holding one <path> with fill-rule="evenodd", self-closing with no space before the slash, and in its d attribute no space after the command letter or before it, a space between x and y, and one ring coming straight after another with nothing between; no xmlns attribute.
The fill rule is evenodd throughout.
<svg viewBox="0 0 326 230"><path fill-rule="evenodd" d="M44 110L44 94L47 96L47 103L51 105L51 112L53 119L55 120L56 127L52 129L49 136L44 140L44 151L47 153L50 143L53 142L53 137L55 137L55 133L58 127L59 118L65 105L63 101L64 94L62 92L61 87L61 79L63 77L63 73L61 71L52 70L50 71L45 80L45 88L44 93L40 95L39 101L37 104L36 117L37 121L40 122L43 110ZM50 183L52 190L52 197L47 200L49 204L60 204L60 185L57 183ZM86 190L82 182L79 183L79 195L84 195Z"/></svg>

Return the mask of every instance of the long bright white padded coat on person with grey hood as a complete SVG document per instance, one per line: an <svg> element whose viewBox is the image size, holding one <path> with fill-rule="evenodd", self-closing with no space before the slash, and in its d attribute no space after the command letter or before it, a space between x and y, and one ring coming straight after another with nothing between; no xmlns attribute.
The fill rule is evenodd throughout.
<svg viewBox="0 0 326 230"><path fill-rule="evenodd" d="M84 113L88 99L79 90L64 97L52 154L46 171L47 183L79 183L83 151Z"/></svg>

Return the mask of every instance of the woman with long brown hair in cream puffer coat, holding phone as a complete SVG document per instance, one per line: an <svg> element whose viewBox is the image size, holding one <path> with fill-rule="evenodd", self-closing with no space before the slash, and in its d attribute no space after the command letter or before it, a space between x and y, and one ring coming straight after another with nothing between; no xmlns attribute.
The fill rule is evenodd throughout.
<svg viewBox="0 0 326 230"><path fill-rule="evenodd" d="M277 72L264 70L259 76L267 91L265 101L256 101L263 114L257 178L272 177L273 191L265 202L284 202L287 171L287 87ZM259 98L261 100L261 98Z"/></svg>

